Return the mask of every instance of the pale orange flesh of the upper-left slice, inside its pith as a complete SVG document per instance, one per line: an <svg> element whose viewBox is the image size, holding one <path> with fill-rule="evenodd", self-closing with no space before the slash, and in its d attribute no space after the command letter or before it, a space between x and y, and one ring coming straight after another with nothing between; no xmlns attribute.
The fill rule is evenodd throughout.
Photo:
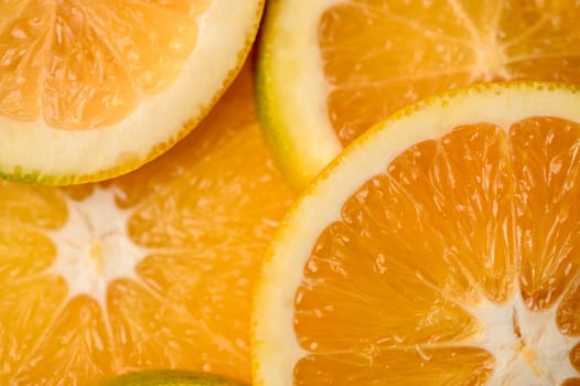
<svg viewBox="0 0 580 386"><path fill-rule="evenodd" d="M173 84L210 0L0 4L0 115L61 129L118 122Z"/></svg>

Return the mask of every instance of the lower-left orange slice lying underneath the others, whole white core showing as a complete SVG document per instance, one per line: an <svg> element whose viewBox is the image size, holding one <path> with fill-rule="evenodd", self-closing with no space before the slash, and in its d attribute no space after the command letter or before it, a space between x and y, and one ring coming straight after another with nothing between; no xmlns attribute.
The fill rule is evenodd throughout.
<svg viewBox="0 0 580 386"><path fill-rule="evenodd" d="M152 163L69 187L0 180L0 384L149 368L249 380L250 289L291 193L249 71Z"/></svg>

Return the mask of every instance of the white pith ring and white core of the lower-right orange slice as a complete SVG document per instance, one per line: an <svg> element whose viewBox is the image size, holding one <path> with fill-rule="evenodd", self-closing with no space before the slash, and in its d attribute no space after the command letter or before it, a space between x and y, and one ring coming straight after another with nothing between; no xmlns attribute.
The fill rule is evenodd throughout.
<svg viewBox="0 0 580 386"><path fill-rule="evenodd" d="M389 162L411 144L441 138L451 128L490 122L507 129L531 116L580 122L579 106L580 90L571 87L535 83L485 85L409 107L353 142L302 194L282 223L271 255L262 266L253 317L255 383L292 385L294 364L307 354L293 330L294 292L302 280L302 268L321 232L341 218L343 203L361 185L384 172ZM513 356L514 345L522 343L514 335L514 310L523 340L538 354L535 361L528 351ZM579 340L558 331L555 310L539 315L526 310L518 298L503 307L487 303L468 310L486 328L484 335L474 336L472 343L496 356L491 385L552 385L550 377L558 382L580 376L568 358L569 350ZM497 365L508 367L497 368ZM535 377L534 367L539 374L545 372L548 378Z"/></svg>

